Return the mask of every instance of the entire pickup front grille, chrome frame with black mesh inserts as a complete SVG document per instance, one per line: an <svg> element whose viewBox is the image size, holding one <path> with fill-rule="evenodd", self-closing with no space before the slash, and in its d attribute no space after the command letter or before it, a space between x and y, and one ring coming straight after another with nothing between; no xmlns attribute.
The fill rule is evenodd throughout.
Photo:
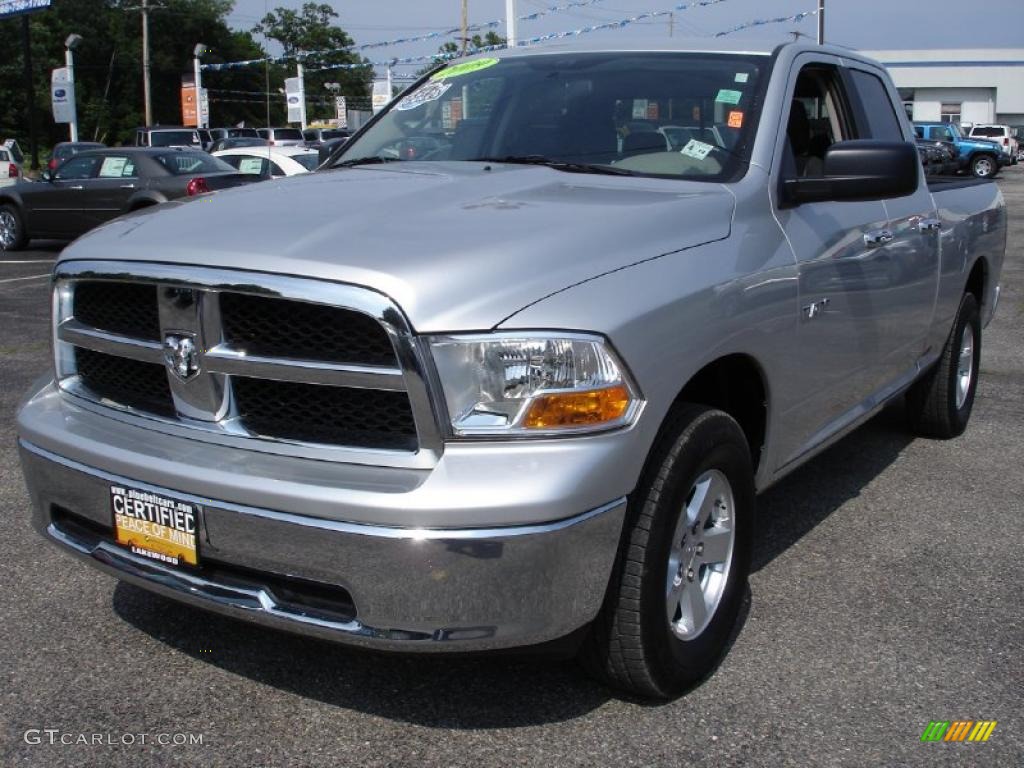
<svg viewBox="0 0 1024 768"><path fill-rule="evenodd" d="M69 262L57 379L88 408L255 450L429 466L440 451L419 348L353 286L162 264Z"/></svg>

